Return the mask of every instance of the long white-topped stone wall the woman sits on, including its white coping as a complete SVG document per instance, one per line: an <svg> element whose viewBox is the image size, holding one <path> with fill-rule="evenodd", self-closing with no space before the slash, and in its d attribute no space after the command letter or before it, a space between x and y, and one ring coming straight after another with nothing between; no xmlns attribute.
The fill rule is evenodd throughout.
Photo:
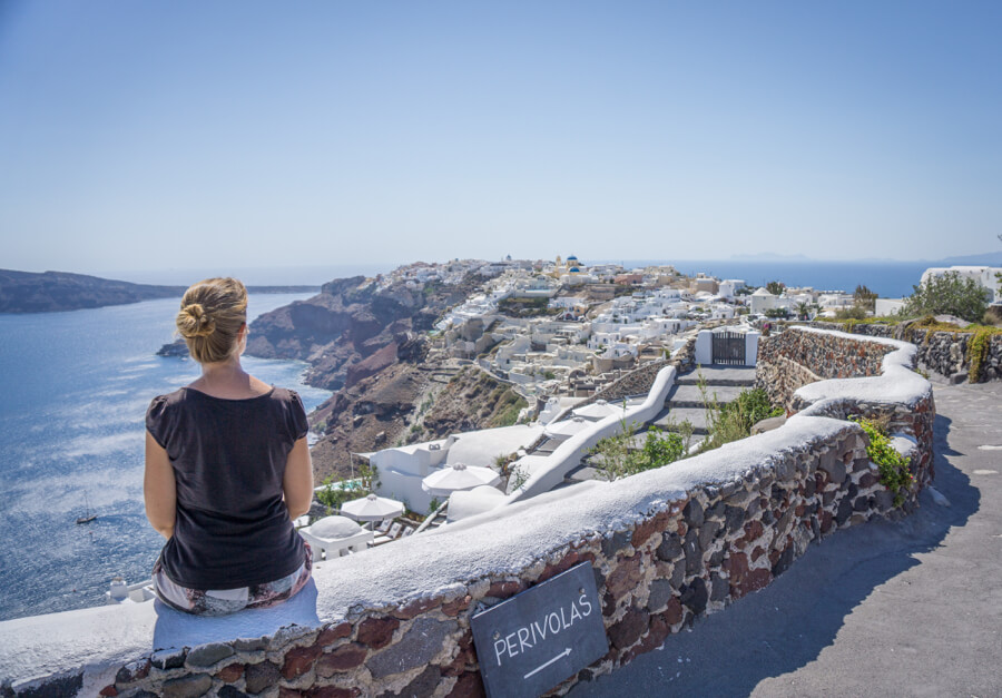
<svg viewBox="0 0 1002 698"><path fill-rule="evenodd" d="M811 356L821 351L807 346L812 340L821 347L831 342L818 335L787 342ZM872 368L878 352L857 348L862 354L849 364ZM911 440L895 440L910 454L915 475L903 507L910 510L930 478L924 454L931 453L932 432L921 426L931 426L934 415L929 384L912 372L914 383L895 376L906 390L866 383L884 381L907 360L885 361L880 376L807 385L790 396L803 409L783 427L671 468L550 492L328 563L315 576L320 627L149 652L139 642L115 646L114 633L98 626L92 632L101 646L89 668L67 660L69 666L53 675L58 657L75 655L48 637L47 628L65 623L67 615L0 623L0 676L6 677L0 695L72 696L91 686L87 695L132 698L479 696L471 617L587 561L610 650L554 688L566 692L764 588L811 541L875 517L898 517L866 456L864 432L841 419L848 411L891 410L914 432ZM786 358L783 365L796 362ZM857 386L858 395L846 396L839 383ZM832 395L819 392L833 384L838 390ZM875 391L890 401L873 399ZM905 424L908 412L913 420ZM111 608L87 619L99 623L121 611ZM40 674L38 667L50 676L30 678Z"/></svg>

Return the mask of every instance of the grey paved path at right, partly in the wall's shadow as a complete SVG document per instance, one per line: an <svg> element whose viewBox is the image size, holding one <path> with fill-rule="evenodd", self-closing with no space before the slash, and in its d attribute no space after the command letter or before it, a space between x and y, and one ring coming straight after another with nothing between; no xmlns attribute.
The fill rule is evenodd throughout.
<svg viewBox="0 0 1002 698"><path fill-rule="evenodd" d="M571 696L1002 696L1002 383L936 385L935 489Z"/></svg>

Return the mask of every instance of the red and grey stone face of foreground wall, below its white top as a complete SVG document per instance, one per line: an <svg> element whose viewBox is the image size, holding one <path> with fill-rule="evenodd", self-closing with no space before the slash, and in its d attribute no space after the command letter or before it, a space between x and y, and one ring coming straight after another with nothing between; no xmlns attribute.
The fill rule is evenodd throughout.
<svg viewBox="0 0 1002 698"><path fill-rule="evenodd" d="M812 541L890 513L892 495L865 444L844 423L746 478L697 488L633 527L540 556L521 574L471 580L461 593L367 609L317 629L155 652L122 667L101 695L479 696L474 609L587 560L610 651L560 694L764 588Z"/></svg>

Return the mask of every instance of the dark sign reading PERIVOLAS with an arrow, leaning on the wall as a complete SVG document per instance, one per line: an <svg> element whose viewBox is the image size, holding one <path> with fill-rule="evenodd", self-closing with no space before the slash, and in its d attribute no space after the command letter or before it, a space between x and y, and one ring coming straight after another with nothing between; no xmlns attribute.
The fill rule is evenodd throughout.
<svg viewBox="0 0 1002 698"><path fill-rule="evenodd" d="M591 563L470 619L488 698L539 696L609 651Z"/></svg>

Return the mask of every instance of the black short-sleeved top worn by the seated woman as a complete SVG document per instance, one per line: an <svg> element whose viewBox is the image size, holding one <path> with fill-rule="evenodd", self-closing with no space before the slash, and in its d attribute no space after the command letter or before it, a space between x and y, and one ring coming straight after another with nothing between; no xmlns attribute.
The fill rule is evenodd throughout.
<svg viewBox="0 0 1002 698"><path fill-rule="evenodd" d="M174 535L160 553L167 577L189 589L237 589L303 563L303 539L282 501L288 452L307 430L294 391L226 400L181 387L154 399L146 429L177 481Z"/></svg>

